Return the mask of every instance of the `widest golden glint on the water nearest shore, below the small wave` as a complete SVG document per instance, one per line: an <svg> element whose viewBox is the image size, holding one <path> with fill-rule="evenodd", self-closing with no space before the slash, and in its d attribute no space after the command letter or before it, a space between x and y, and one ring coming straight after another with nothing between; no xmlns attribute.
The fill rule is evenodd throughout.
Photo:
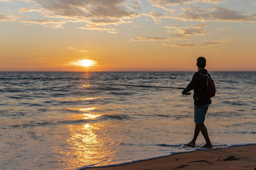
<svg viewBox="0 0 256 170"><path fill-rule="evenodd" d="M69 125L68 130L71 135L67 139L69 147L63 151L68 157L65 161L72 164L72 167L74 165L81 167L99 164L106 159L106 155L113 155L115 153L113 148L105 145L112 139L97 135L97 131L101 131L101 128L99 124Z"/></svg>

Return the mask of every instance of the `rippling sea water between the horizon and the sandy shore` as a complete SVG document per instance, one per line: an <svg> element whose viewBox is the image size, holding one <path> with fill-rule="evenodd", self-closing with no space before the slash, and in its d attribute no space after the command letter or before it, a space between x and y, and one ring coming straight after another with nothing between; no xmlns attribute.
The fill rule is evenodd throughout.
<svg viewBox="0 0 256 170"><path fill-rule="evenodd" d="M210 72L213 147L256 142L256 72ZM193 72L0 72L0 168L79 169L189 152ZM193 94L193 92L192 92Z"/></svg>

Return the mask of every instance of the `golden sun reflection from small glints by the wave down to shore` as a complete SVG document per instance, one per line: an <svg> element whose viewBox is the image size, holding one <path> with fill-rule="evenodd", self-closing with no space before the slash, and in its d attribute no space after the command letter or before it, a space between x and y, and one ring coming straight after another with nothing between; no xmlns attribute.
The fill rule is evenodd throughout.
<svg viewBox="0 0 256 170"><path fill-rule="evenodd" d="M96 107L79 108L82 114L75 114L75 120L94 120L101 114L94 113ZM113 139L106 134L104 126L98 122L86 122L79 125L67 125L67 138L64 146L56 148L64 156L62 160L67 167L82 167L84 165L104 165L112 160L115 151Z"/></svg>

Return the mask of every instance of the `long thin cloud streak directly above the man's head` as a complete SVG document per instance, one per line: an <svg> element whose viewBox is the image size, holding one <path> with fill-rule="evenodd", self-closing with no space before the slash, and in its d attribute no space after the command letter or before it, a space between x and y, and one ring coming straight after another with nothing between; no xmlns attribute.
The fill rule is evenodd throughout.
<svg viewBox="0 0 256 170"><path fill-rule="evenodd" d="M212 46L212 45L223 45L226 42L230 42L232 39L230 37L226 37L225 39L216 40L213 42L204 42L201 44L175 44L175 43L166 43L163 45L170 45L170 46L176 46L176 47L203 47L203 46Z"/></svg>

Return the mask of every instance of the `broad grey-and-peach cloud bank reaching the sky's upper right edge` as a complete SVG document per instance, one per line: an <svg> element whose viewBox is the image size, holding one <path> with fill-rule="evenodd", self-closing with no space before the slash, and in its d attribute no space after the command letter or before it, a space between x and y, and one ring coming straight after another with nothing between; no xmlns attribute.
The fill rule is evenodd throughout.
<svg viewBox="0 0 256 170"><path fill-rule="evenodd" d="M185 1L185 0L151 0L152 6L159 7L162 4L164 7L170 5L187 5L189 3L196 2L207 2L207 3L224 3L226 1ZM153 3L154 2L154 3ZM162 7L163 7L162 6ZM164 8L163 7L163 8ZM213 7L213 8L200 8L198 6L185 6L177 8L168 8L169 14L160 14L159 12L150 12L149 14L143 14L150 16L156 24L161 23L160 19L169 18L183 21L197 21L197 22L256 22L256 14L245 14L245 12L238 12L230 10L224 7Z"/></svg>

